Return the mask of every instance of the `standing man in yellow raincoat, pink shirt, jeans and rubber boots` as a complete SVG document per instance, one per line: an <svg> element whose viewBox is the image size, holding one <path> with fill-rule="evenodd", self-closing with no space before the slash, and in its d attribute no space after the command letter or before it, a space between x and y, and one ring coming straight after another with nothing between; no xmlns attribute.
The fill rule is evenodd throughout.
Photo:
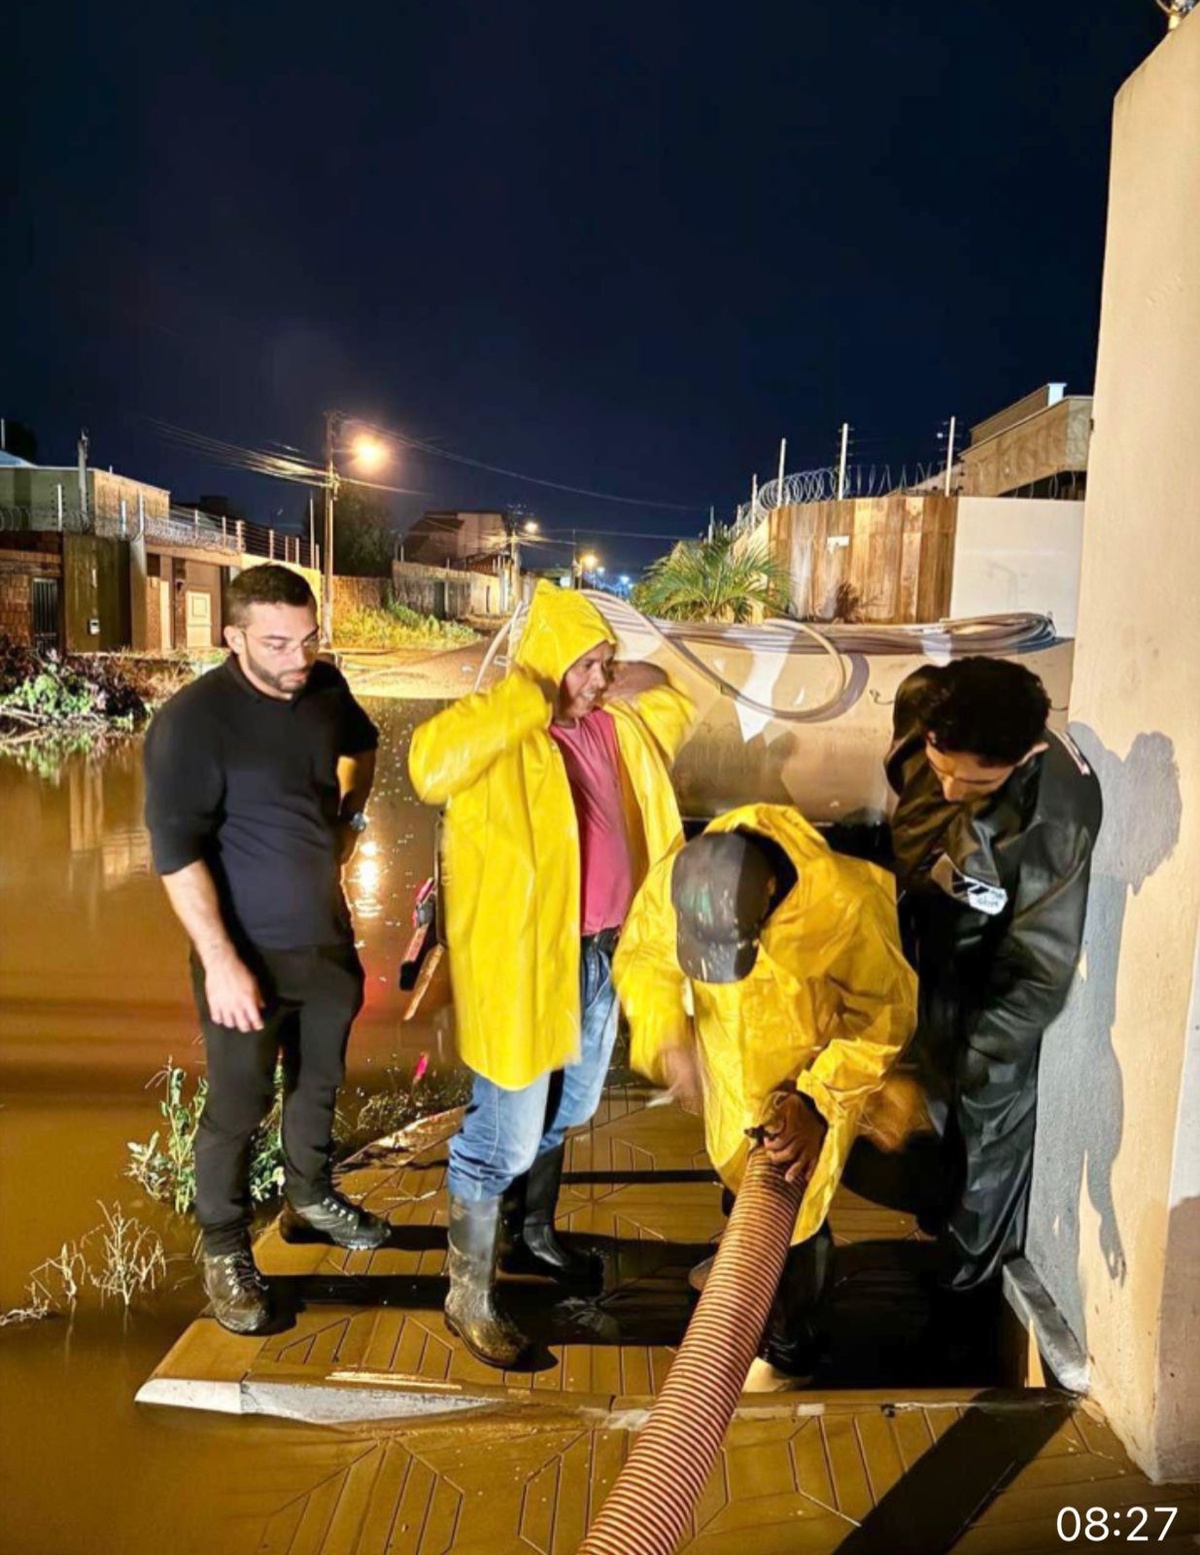
<svg viewBox="0 0 1200 1555"><path fill-rule="evenodd" d="M603 1275L555 1236L564 1140L612 1054L617 931L682 843L668 762L695 709L654 666L614 666L614 647L581 594L539 583L507 678L421 725L409 753L418 796L446 807L446 942L474 1073L449 1152L446 1322L497 1367L527 1351L494 1303L502 1222L505 1267Z"/></svg>

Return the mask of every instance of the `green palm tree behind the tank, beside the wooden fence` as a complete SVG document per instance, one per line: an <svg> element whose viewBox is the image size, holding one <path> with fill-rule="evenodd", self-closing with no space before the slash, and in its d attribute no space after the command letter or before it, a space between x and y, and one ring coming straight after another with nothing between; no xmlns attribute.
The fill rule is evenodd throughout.
<svg viewBox="0 0 1200 1555"><path fill-rule="evenodd" d="M664 620L752 620L787 610L788 574L768 547L718 527L709 540L681 540L647 568L633 603Z"/></svg>

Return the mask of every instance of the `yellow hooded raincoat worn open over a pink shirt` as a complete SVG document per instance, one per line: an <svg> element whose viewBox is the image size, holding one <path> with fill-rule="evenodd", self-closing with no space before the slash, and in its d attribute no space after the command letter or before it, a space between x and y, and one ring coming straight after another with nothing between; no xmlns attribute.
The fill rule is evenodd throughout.
<svg viewBox="0 0 1200 1555"><path fill-rule="evenodd" d="M580 1051L580 837L547 732L570 666L616 642L581 594L539 583L508 675L412 737L418 798L446 807L441 871L463 1064L505 1090ZM622 757L634 883L682 843L668 764L695 717L670 686L606 704Z"/></svg>

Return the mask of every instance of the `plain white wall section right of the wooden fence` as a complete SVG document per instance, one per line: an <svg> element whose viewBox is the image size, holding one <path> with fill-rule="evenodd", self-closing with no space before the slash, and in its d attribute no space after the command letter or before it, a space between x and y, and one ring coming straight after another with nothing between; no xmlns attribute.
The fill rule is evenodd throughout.
<svg viewBox="0 0 1200 1555"><path fill-rule="evenodd" d="M961 496L950 614L1032 610L1073 638L1082 554L1082 502Z"/></svg>

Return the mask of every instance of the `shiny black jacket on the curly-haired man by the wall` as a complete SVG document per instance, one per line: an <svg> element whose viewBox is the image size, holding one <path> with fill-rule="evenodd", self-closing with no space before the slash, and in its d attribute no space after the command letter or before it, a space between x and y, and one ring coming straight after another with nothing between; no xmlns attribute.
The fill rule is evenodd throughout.
<svg viewBox="0 0 1200 1555"><path fill-rule="evenodd" d="M944 799L912 709L925 675L909 675L895 703L892 849L922 983L922 1045L970 1092L995 1064L1024 1068L1066 1001L1101 785L1073 742L1048 729L1049 750L998 793Z"/></svg>

